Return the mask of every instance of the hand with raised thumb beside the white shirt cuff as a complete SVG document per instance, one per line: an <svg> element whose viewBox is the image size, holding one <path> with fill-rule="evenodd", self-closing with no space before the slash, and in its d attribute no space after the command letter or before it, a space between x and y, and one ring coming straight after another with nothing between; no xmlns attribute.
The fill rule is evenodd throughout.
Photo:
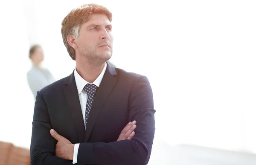
<svg viewBox="0 0 256 165"><path fill-rule="evenodd" d="M55 130L51 129L50 133L58 142L56 144L55 154L57 157L67 160L73 160L74 144L68 139L60 136Z"/></svg>

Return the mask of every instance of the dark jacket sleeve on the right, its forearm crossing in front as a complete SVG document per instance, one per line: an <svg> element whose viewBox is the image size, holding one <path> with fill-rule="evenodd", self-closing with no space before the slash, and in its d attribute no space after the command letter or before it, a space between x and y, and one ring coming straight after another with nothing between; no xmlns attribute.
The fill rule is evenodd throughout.
<svg viewBox="0 0 256 165"><path fill-rule="evenodd" d="M135 136L131 140L110 143L81 143L78 164L146 165L153 145L155 121L151 86L140 76L131 90L129 119L136 120Z"/></svg>

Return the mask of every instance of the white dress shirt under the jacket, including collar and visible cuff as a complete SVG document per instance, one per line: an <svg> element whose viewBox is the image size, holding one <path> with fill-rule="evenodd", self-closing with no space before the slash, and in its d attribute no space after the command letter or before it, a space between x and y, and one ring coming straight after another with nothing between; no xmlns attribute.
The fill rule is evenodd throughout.
<svg viewBox="0 0 256 165"><path fill-rule="evenodd" d="M107 64L105 64L105 67L103 68L102 72L100 73L100 75L96 78L96 80L92 84L99 87L99 84L102 81L102 78L103 78L103 75L105 74L106 69L107 69ZM75 76L77 92L78 92L79 101L80 101L80 104L81 104L81 110L82 110L83 119L84 119L85 118L85 109L86 109L87 97L88 97L87 94L84 91L84 86L86 84L91 84L91 83L88 83L87 81L85 81L78 74L76 69L75 69L75 72L74 72L74 76ZM85 125L85 121L84 121L84 125ZM86 125L85 125L85 130L86 130ZM75 144L75 147L74 147L73 164L77 163L77 154L78 154L79 145L80 145L79 143Z"/></svg>

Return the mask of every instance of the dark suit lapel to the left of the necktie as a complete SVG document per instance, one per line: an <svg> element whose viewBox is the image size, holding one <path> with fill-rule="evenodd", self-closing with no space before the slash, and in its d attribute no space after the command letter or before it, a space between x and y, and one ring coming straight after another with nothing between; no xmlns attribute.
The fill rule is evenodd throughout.
<svg viewBox="0 0 256 165"><path fill-rule="evenodd" d="M68 77L66 87L64 87L64 93L67 99L67 104L69 106L73 123L76 128L79 142L81 143L84 140L85 127L74 72Z"/></svg>

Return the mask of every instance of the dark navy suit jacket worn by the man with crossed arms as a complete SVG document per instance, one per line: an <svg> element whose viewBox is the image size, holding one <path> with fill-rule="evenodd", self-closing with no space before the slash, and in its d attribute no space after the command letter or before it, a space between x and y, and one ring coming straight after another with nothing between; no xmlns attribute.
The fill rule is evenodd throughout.
<svg viewBox="0 0 256 165"><path fill-rule="evenodd" d="M143 75L108 64L93 101L85 131L74 72L37 92L31 165L73 165L55 156L53 128L72 144L80 143L78 165L146 165L154 139L154 103ZM128 122L136 120L135 136L116 141Z"/></svg>

